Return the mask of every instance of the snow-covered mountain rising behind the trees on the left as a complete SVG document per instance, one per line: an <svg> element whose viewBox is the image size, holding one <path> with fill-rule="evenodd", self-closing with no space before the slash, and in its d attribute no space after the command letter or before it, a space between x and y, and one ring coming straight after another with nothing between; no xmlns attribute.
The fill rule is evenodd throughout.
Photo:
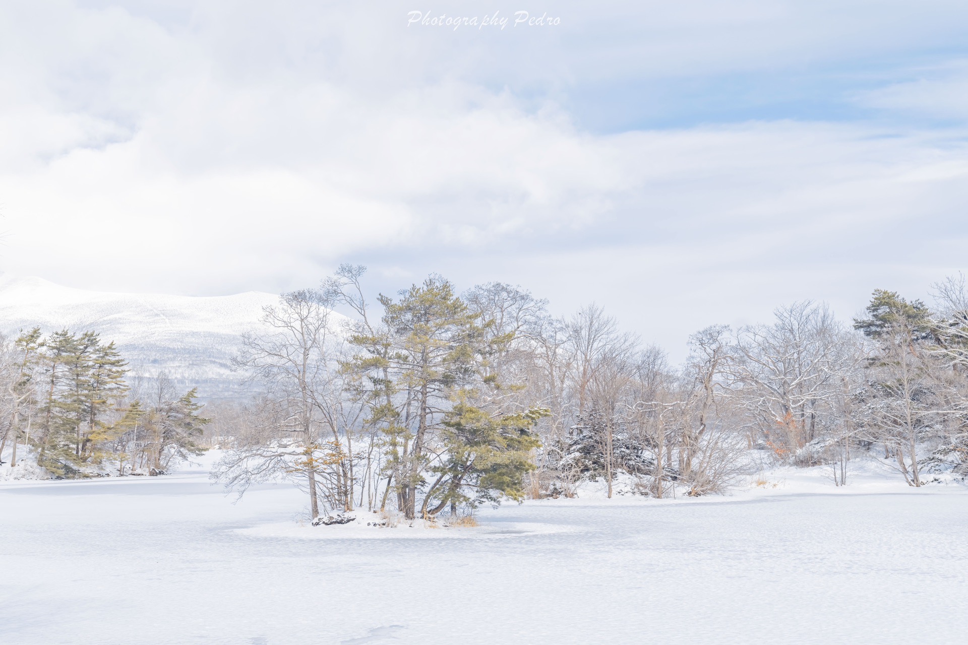
<svg viewBox="0 0 968 645"><path fill-rule="evenodd" d="M240 375L230 369L244 332L258 329L262 308L279 296L249 291L194 297L107 293L60 286L40 278L0 276L0 332L93 330L113 340L136 372L166 370L201 396L237 396Z"/></svg>

